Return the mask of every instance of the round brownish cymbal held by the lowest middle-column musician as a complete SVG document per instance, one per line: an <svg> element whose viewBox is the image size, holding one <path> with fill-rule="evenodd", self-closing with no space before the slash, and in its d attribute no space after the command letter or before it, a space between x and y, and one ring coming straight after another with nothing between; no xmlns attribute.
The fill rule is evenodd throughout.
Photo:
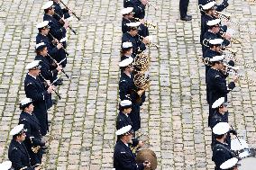
<svg viewBox="0 0 256 170"><path fill-rule="evenodd" d="M148 149L148 148L144 148L140 150L136 156L137 163L143 163L146 160L151 162L151 167L144 168L144 170L155 170L157 168L158 166L157 156L151 149Z"/></svg>

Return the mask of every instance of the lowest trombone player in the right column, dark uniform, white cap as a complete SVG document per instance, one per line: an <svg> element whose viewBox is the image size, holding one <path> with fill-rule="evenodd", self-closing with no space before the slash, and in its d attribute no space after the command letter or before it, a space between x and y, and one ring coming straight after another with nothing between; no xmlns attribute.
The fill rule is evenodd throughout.
<svg viewBox="0 0 256 170"><path fill-rule="evenodd" d="M221 98L225 98L225 102L227 101L227 94L233 90L235 87L235 83L238 81L237 76L233 76L233 81L226 85L225 78L228 75L224 75L222 69L224 67L224 56L215 56L210 59L212 67L208 70L206 75L206 88L207 88L207 103L209 103L209 118L208 124L210 125L210 120L212 118L213 103Z"/></svg>

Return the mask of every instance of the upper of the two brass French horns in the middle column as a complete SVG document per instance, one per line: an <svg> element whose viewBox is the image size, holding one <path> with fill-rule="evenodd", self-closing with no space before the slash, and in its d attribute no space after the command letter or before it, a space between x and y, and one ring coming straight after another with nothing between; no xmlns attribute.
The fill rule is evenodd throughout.
<svg viewBox="0 0 256 170"><path fill-rule="evenodd" d="M137 72L145 73L150 67L151 58L146 54L138 54L136 58L134 58L134 69Z"/></svg>

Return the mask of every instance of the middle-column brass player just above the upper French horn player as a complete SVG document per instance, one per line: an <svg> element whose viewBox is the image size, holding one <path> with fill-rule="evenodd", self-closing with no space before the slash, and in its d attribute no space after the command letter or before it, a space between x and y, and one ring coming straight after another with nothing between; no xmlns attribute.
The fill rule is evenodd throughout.
<svg viewBox="0 0 256 170"><path fill-rule="evenodd" d="M141 22L130 22L127 23L129 27L129 31L123 33L122 43L123 42L132 42L133 43L133 55L136 56L137 54L142 53L143 50L146 49L146 45L149 43L149 40L143 38L142 40L138 36L139 26Z"/></svg>

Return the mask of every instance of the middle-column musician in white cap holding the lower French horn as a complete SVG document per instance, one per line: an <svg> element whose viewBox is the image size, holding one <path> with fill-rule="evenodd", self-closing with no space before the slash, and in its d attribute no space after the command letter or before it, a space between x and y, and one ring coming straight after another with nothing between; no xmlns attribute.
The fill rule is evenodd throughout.
<svg viewBox="0 0 256 170"><path fill-rule="evenodd" d="M121 76L119 81L119 98L121 101L130 100L133 103L132 112L129 114L133 122L133 130L141 128L140 99L145 90L138 90L133 82L133 58L126 58L119 63Z"/></svg>

